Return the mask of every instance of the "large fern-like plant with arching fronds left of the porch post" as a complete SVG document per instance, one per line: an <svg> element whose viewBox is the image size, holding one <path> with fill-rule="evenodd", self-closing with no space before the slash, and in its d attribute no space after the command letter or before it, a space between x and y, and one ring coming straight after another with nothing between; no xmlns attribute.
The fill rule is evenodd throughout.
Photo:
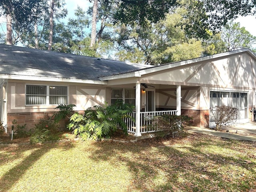
<svg viewBox="0 0 256 192"><path fill-rule="evenodd" d="M73 114L68 128L73 129L74 134L80 135L83 140L109 138L118 128L127 134L124 118L132 118L129 113L133 109L134 106L123 104L122 100L110 106L94 106L88 108L83 115Z"/></svg>

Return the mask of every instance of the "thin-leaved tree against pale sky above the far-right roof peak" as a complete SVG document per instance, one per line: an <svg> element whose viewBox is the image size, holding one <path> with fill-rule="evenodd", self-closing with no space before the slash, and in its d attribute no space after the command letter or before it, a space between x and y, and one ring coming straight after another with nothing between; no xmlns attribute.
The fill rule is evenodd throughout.
<svg viewBox="0 0 256 192"><path fill-rule="evenodd" d="M229 22L221 31L221 38L225 42L227 51L251 48L256 37L251 35L240 23Z"/></svg>

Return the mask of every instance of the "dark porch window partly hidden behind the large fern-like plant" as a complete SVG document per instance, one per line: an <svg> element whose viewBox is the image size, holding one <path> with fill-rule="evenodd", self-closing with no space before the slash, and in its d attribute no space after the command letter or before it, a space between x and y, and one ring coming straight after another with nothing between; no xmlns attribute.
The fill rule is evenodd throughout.
<svg viewBox="0 0 256 192"><path fill-rule="evenodd" d="M125 103L135 106L136 92L135 89L112 89L111 90L111 104L114 104L117 100L122 100Z"/></svg>

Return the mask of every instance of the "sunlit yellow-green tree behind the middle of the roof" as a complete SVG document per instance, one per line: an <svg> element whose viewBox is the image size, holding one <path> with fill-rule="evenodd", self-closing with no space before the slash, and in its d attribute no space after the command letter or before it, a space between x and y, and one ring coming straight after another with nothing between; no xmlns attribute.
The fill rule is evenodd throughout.
<svg viewBox="0 0 256 192"><path fill-rule="evenodd" d="M153 65L200 57L203 51L200 40L189 39L182 28L186 14L185 8L177 8L156 24L150 21L143 26L120 24L115 35L120 47L116 56L119 60Z"/></svg>

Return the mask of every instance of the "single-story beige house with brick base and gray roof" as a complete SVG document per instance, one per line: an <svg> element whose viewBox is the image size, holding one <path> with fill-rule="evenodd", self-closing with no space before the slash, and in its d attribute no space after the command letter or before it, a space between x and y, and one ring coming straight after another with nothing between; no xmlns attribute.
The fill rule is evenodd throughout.
<svg viewBox="0 0 256 192"><path fill-rule="evenodd" d="M115 100L134 104L135 136L148 132L152 116L186 114L193 125L214 126L211 106L238 108L238 122L252 118L256 55L249 49L150 66L0 44L0 121L33 128L58 104L82 111Z"/></svg>

